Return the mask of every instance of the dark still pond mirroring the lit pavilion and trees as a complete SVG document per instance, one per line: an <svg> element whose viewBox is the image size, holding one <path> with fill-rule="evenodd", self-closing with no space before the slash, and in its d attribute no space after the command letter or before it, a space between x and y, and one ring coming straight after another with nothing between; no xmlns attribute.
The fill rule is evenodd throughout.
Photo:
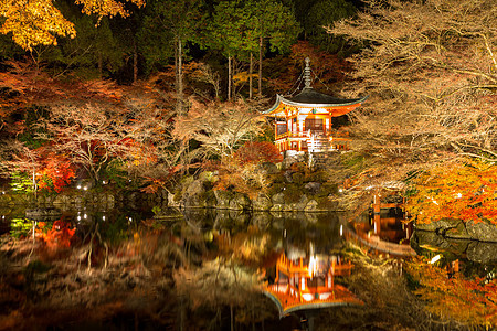
<svg viewBox="0 0 497 331"><path fill-rule="evenodd" d="M394 211L362 215L352 223L345 213L157 207L40 213L19 210L2 215L6 281L0 306L6 313L0 327L415 328L427 323L430 314L413 316L414 296L395 298L402 300L390 303L399 305L399 311L389 308L392 312L384 317L371 307L390 305L390 291L404 286L404 261L416 255L438 256L447 277L465 273L491 278L497 267L491 258L496 255L482 253L479 257L490 256L482 260L474 253L497 252L495 244L474 247L426 238Z"/></svg>

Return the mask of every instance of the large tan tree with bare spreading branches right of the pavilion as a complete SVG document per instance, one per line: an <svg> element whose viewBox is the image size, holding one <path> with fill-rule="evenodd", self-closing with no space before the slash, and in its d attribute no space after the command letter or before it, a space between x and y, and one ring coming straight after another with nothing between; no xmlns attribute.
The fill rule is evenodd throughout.
<svg viewBox="0 0 497 331"><path fill-rule="evenodd" d="M345 93L370 95L350 115L356 147L383 174L497 159L496 11L491 0L373 0L329 29L363 46Z"/></svg>

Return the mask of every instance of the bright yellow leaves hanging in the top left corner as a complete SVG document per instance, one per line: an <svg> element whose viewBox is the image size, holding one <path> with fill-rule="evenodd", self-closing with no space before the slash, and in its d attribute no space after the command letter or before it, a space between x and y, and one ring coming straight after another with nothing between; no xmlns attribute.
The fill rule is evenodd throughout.
<svg viewBox="0 0 497 331"><path fill-rule="evenodd" d="M126 1L145 6L145 0ZM128 14L124 4L116 0L75 0L75 3L83 4L83 13L98 18ZM12 33L13 42L27 51L32 51L36 45L56 45L55 35L76 35L74 24L62 15L52 0L2 0L0 17L6 19L0 33Z"/></svg>

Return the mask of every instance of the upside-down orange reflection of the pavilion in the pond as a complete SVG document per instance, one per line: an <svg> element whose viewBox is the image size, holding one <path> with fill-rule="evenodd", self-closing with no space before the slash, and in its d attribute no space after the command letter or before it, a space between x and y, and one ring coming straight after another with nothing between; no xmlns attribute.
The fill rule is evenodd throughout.
<svg viewBox="0 0 497 331"><path fill-rule="evenodd" d="M274 284L265 288L278 307L279 317L298 310L334 306L363 305L347 288L335 282L337 276L350 276L350 261L339 256L313 255L289 259L282 254L276 263Z"/></svg>

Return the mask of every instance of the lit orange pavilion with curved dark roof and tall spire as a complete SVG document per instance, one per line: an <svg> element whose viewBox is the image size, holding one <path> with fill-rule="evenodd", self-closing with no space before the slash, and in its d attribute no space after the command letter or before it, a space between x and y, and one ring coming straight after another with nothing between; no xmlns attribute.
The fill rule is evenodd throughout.
<svg viewBox="0 0 497 331"><path fill-rule="evenodd" d="M331 130L331 118L352 111L367 99L341 99L315 90L310 85L310 60L304 70L305 87L294 97L276 95L265 116L275 118L275 145L287 150L324 152L349 149L349 139Z"/></svg>

